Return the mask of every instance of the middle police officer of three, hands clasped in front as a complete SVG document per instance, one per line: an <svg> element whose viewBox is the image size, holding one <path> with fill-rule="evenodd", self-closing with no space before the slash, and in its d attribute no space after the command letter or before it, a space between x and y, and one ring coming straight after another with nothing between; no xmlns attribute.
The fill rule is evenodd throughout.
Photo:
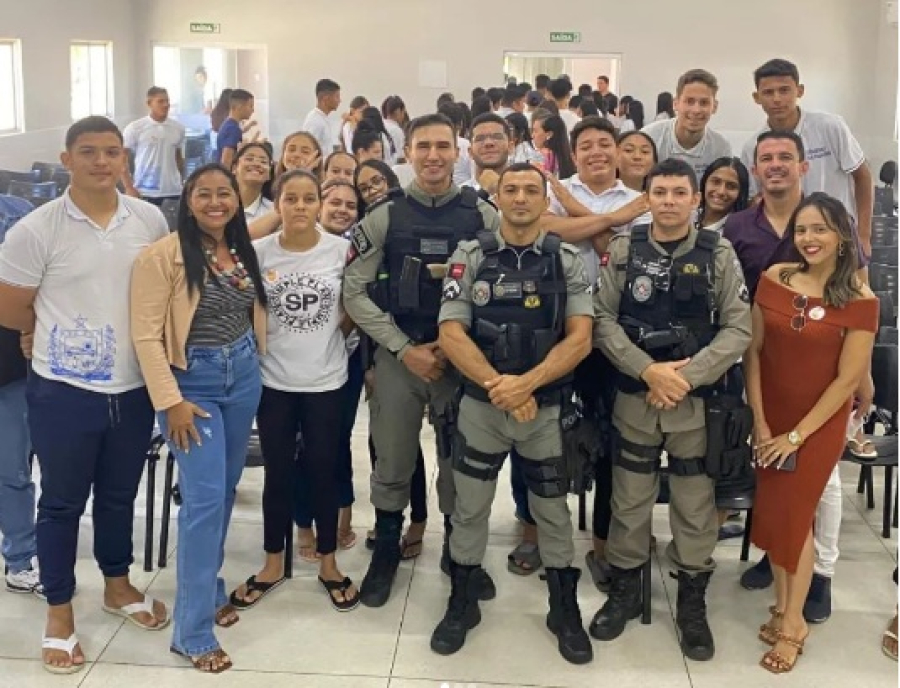
<svg viewBox="0 0 900 688"><path fill-rule="evenodd" d="M440 346L465 380L453 447L452 591L431 647L457 652L481 620L473 580L497 475L515 448L547 573L547 626L563 657L583 664L593 651L576 599L560 407L571 404L572 371L591 348L592 298L578 249L541 232L544 175L511 165L500 175L497 202L500 232L462 242L444 282Z"/></svg>

